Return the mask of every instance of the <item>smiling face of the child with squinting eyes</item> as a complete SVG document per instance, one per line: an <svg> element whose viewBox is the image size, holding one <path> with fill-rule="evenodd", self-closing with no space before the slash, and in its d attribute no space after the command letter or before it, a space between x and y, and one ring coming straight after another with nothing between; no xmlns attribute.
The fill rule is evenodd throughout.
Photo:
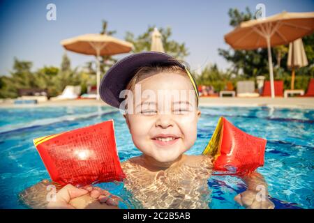
<svg viewBox="0 0 314 223"><path fill-rule="evenodd" d="M188 151L197 137L200 111L195 102L193 85L188 77L176 73L159 73L137 84L140 84L142 93L145 90L154 92L156 100L135 100L134 108L140 106L141 113L125 115L133 142L142 153L156 161L172 162ZM169 98L169 91L177 91L180 96L166 100L171 104L167 108L163 102ZM191 92L193 100L189 98Z"/></svg>

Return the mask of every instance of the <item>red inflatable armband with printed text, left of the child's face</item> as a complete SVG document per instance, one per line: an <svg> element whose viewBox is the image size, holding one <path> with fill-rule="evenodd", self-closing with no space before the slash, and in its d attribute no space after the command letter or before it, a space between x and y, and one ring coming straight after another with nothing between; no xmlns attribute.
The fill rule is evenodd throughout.
<svg viewBox="0 0 314 223"><path fill-rule="evenodd" d="M33 139L54 182L61 185L123 180L113 121Z"/></svg>

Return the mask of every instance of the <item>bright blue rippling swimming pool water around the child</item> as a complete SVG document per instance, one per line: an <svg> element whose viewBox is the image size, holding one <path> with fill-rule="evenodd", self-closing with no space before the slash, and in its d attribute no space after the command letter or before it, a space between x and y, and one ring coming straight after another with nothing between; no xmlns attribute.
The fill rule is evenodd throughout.
<svg viewBox="0 0 314 223"><path fill-rule="evenodd" d="M314 208L314 110L270 107L200 107L197 141L187 154L200 154L225 116L238 128L268 139L264 167L257 169L267 180L276 208ZM0 208L26 208L17 194L49 178L32 139L114 119L117 148L122 161L140 155L133 145L123 116L111 107L0 108ZM242 208L234 196L245 190L235 176L208 180L210 208ZM100 187L124 196L121 183ZM132 208L132 207L131 207Z"/></svg>

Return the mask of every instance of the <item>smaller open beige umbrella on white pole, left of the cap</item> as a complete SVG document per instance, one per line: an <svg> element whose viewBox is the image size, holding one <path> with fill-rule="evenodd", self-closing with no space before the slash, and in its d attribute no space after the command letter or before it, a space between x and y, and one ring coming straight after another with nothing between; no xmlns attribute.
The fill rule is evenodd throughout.
<svg viewBox="0 0 314 223"><path fill-rule="evenodd" d="M97 100L99 100L100 84L100 56L128 53L132 49L132 43L119 40L105 34L91 33L82 36L76 36L61 41L64 48L77 52L96 56L97 63Z"/></svg>

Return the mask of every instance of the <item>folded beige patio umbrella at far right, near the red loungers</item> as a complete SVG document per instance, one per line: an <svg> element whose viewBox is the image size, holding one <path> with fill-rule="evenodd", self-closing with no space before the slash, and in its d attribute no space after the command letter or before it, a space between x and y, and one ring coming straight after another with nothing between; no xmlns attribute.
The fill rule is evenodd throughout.
<svg viewBox="0 0 314 223"><path fill-rule="evenodd" d="M301 38L289 43L287 66L292 69L291 89L294 90L294 69L308 66L308 59Z"/></svg>

